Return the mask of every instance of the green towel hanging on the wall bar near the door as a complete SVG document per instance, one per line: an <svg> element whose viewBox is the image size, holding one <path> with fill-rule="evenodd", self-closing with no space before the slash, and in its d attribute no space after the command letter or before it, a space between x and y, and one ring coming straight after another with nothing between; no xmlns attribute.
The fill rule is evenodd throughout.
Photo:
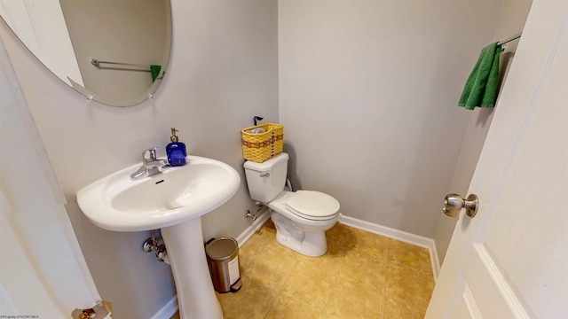
<svg viewBox="0 0 568 319"><path fill-rule="evenodd" d="M476 106L495 106L500 55L501 45L497 43L491 43L481 50L476 66L465 83L458 106L464 106L468 110L473 110Z"/></svg>

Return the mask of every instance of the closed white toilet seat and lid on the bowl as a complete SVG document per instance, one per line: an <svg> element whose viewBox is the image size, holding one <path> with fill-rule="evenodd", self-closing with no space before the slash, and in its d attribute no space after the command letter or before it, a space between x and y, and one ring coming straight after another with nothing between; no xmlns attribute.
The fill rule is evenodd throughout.
<svg viewBox="0 0 568 319"><path fill-rule="evenodd" d="M339 202L319 191L296 191L285 205L290 212L312 221L325 221L339 212Z"/></svg>

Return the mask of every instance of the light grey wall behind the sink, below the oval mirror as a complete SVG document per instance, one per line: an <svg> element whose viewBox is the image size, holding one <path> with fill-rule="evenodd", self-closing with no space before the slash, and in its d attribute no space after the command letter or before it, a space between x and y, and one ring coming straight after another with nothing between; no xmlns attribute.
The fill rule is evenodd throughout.
<svg viewBox="0 0 568 319"><path fill-rule="evenodd" d="M76 205L75 192L140 162L147 147L170 142L170 127L195 155L220 159L242 173L241 128L254 115L278 121L276 0L172 1L170 66L154 100L116 108L86 104L10 33L0 36L12 60L43 144L67 198L67 214L102 298L117 318L154 315L174 295L169 266L142 252L147 232L100 230ZM236 237L254 210L241 190L203 219L204 237Z"/></svg>

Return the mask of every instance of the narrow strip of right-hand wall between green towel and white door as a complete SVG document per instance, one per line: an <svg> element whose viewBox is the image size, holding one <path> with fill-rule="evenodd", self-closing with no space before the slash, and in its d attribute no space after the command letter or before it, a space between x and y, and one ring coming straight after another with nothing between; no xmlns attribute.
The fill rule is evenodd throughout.
<svg viewBox="0 0 568 319"><path fill-rule="evenodd" d="M499 19L493 33L492 41L498 42L517 35L523 30L525 20L531 9L532 0L505 0L501 3ZM518 41L507 43L506 50L501 53L501 85L507 79L509 66L517 51ZM499 107L499 100L497 105ZM477 165L477 159L485 142L485 136L493 119L493 109L479 109L472 111L472 116L467 123L466 135L461 142L461 152L457 160L454 177L448 188L448 193L457 193L466 197L468 195L469 182ZM475 192L475 190L470 190ZM444 261L447 247L454 234L457 218L450 218L446 214L440 214L438 230L434 237L438 252L438 260Z"/></svg>

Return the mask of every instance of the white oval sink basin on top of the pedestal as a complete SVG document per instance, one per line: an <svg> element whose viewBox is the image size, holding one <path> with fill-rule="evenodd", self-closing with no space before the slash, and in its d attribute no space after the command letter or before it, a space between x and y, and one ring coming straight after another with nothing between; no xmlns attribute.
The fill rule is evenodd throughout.
<svg viewBox="0 0 568 319"><path fill-rule="evenodd" d="M140 164L101 178L77 192L83 213L105 230L156 230L200 217L233 197L241 177L215 159L187 156L183 167L130 180Z"/></svg>

